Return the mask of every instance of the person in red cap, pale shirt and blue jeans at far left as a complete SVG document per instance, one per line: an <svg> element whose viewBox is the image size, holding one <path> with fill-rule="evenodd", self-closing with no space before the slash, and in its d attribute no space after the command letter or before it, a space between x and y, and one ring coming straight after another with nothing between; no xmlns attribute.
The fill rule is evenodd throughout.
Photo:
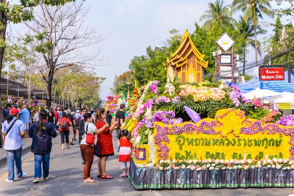
<svg viewBox="0 0 294 196"><path fill-rule="evenodd" d="M11 108L7 120L2 126L2 138L6 150L8 178L6 182L14 182L14 162L18 178L25 177L22 170L23 138L25 137L25 125L18 120L19 109Z"/></svg>

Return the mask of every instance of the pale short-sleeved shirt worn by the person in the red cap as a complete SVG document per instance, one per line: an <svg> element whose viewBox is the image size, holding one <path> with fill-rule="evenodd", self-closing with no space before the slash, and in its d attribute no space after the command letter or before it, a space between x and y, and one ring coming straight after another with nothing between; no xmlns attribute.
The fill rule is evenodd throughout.
<svg viewBox="0 0 294 196"><path fill-rule="evenodd" d="M2 126L2 133L6 133L10 125L16 120L16 117L13 117L10 123L5 121ZM25 125L21 120L17 120L8 134L5 137L4 149L5 150L16 150L23 146L23 138L21 132L25 131Z"/></svg>

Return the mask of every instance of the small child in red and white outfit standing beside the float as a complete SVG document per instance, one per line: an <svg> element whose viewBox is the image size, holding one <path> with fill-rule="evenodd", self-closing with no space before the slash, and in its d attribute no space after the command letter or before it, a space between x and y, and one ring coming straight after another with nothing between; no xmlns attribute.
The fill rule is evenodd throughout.
<svg viewBox="0 0 294 196"><path fill-rule="evenodd" d="M127 172L129 172L130 167L130 153L131 153L131 147L130 147L130 134L128 130L123 129L120 132L119 140L121 144L120 152L119 152L119 162L121 163L121 169L123 170L123 173L121 174L121 177L127 177L128 174L125 173L125 164L127 166Z"/></svg>

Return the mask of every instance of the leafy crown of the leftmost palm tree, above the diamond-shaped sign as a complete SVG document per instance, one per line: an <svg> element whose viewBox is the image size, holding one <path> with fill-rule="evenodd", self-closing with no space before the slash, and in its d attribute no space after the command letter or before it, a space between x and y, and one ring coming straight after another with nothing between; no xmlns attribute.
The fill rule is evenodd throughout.
<svg viewBox="0 0 294 196"><path fill-rule="evenodd" d="M230 24L232 21L230 9L228 5L223 5L223 0L216 0L214 3L210 1L208 7L209 9L200 17L200 22L205 20L204 28L210 30L216 24L219 24L221 27L227 27Z"/></svg>

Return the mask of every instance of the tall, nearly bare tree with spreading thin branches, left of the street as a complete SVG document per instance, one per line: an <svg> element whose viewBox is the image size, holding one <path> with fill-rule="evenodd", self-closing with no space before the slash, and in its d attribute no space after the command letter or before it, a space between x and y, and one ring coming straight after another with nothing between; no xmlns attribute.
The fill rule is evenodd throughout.
<svg viewBox="0 0 294 196"><path fill-rule="evenodd" d="M100 66L105 60L103 57L98 59L101 49L92 53L85 53L82 49L97 45L107 35L100 34L98 29L85 23L88 8L84 2L49 7L41 4L38 8L36 17L25 25L29 28L27 37L31 43L37 43L36 50L43 57L38 71L46 81L47 106L51 106L54 73L71 66Z"/></svg>

